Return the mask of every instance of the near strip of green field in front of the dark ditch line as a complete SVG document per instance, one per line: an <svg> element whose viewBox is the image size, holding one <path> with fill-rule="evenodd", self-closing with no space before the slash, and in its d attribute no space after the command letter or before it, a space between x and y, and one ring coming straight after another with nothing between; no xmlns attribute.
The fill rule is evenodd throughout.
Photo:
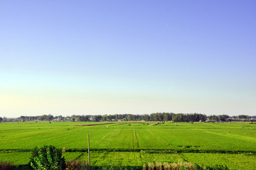
<svg viewBox="0 0 256 170"><path fill-rule="evenodd" d="M205 166L227 165L230 169L256 169L255 154L166 154L146 152L91 152L92 166L142 166L148 162L193 162ZM66 160L87 161L86 152L65 152ZM28 164L31 152L0 153L0 160L14 162L14 165Z"/></svg>

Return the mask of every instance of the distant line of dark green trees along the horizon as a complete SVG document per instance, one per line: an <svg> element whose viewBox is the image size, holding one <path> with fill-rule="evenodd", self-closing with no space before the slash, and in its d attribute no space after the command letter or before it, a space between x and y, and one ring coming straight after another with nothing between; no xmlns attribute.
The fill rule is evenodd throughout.
<svg viewBox="0 0 256 170"><path fill-rule="evenodd" d="M20 116L16 121L173 121L173 122L205 122L205 121L252 121L256 122L256 116L250 115L205 115L201 113L151 113L144 115L133 114L114 114L114 115L71 115L71 116L53 116L53 115L38 115L38 116ZM1 118L0 122L9 121L6 117Z"/></svg>

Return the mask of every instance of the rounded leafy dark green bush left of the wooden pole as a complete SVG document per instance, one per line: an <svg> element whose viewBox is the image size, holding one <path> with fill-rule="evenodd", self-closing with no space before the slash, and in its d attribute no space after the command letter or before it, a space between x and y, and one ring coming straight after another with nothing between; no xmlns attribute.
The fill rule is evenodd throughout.
<svg viewBox="0 0 256 170"><path fill-rule="evenodd" d="M44 147L35 147L33 149L29 164L33 169L38 170L64 170L65 158L62 157L60 149L45 145Z"/></svg>

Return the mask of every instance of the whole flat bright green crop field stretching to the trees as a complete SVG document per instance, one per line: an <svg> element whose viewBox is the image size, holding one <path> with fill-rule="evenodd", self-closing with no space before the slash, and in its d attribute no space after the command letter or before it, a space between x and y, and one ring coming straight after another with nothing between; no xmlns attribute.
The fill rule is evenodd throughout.
<svg viewBox="0 0 256 170"><path fill-rule="evenodd" d="M142 166L147 162L225 164L256 169L256 124L249 123L0 123L0 160L28 164L30 149L54 145L65 159L87 160L90 134L92 166ZM26 152L25 152L26 151Z"/></svg>

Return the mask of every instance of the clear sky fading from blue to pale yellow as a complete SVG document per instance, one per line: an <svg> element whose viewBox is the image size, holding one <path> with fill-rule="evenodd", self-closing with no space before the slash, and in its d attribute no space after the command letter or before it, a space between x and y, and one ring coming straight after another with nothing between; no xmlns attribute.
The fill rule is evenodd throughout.
<svg viewBox="0 0 256 170"><path fill-rule="evenodd" d="M0 116L256 115L256 1L0 1Z"/></svg>

